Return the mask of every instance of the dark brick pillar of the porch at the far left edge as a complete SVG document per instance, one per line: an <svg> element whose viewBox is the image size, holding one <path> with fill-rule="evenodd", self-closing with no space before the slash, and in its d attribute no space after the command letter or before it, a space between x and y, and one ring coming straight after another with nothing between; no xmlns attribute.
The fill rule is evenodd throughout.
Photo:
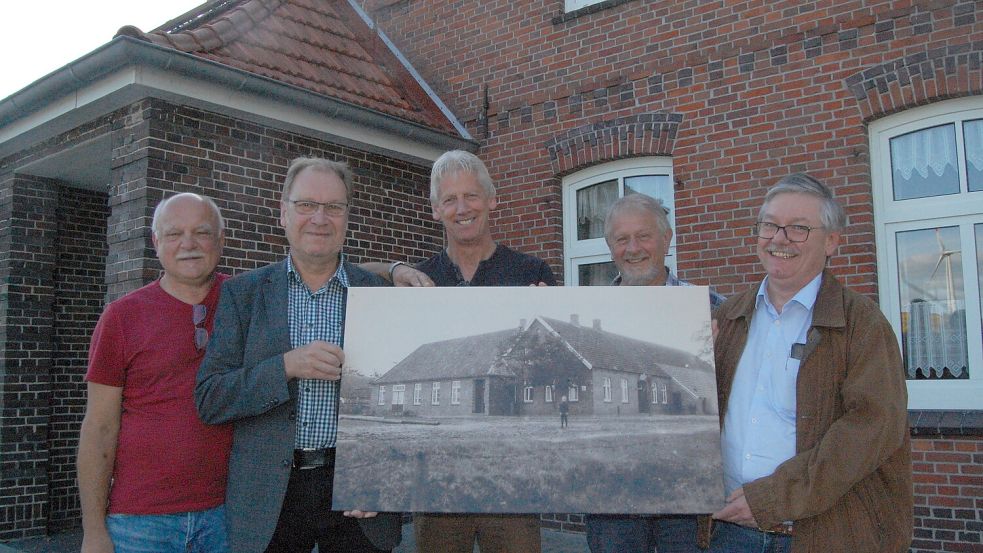
<svg viewBox="0 0 983 553"><path fill-rule="evenodd" d="M0 182L0 540L43 530L48 502L57 190Z"/></svg>

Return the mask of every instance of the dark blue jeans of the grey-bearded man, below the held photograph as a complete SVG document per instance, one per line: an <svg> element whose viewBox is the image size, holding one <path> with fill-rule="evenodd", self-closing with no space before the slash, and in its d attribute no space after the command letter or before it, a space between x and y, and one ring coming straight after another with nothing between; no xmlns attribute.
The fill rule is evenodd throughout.
<svg viewBox="0 0 983 553"><path fill-rule="evenodd" d="M591 553L702 553L693 515L587 515L584 522Z"/></svg>

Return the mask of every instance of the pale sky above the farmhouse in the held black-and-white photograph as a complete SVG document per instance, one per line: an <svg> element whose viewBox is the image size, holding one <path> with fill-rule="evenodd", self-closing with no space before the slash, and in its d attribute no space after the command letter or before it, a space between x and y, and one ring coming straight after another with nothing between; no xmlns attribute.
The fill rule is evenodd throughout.
<svg viewBox="0 0 983 553"><path fill-rule="evenodd" d="M366 376L391 369L420 345L518 328L536 316L695 353L710 318L705 287L349 288L345 365Z"/></svg>

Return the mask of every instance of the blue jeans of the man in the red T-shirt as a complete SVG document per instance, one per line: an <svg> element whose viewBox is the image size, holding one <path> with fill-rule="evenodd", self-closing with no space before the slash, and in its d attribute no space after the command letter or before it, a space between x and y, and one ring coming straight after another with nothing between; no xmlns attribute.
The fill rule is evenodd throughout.
<svg viewBox="0 0 983 553"><path fill-rule="evenodd" d="M225 506L167 515L109 515L116 553L229 553Z"/></svg>

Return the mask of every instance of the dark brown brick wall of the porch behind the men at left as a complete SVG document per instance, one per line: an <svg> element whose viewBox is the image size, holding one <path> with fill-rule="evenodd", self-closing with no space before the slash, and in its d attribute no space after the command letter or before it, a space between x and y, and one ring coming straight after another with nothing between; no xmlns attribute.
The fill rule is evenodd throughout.
<svg viewBox="0 0 983 553"><path fill-rule="evenodd" d="M107 157L87 160L111 168L103 193L19 173L107 134ZM106 301L159 276L156 204L176 192L212 197L226 218L220 270L266 265L286 251L279 191L302 155L352 168L349 259L419 259L442 246L428 166L156 99L0 159L0 541L79 523L74 450L88 338Z"/></svg>

